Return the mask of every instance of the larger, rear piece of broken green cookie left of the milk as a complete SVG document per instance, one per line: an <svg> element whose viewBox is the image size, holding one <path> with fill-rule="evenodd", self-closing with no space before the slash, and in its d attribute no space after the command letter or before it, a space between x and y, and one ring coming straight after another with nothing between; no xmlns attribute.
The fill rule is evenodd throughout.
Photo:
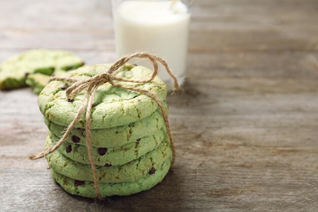
<svg viewBox="0 0 318 212"><path fill-rule="evenodd" d="M0 64L0 88L12 89L26 85L25 79L29 73L51 75L54 69L70 70L82 65L79 57L67 51L29 50Z"/></svg>

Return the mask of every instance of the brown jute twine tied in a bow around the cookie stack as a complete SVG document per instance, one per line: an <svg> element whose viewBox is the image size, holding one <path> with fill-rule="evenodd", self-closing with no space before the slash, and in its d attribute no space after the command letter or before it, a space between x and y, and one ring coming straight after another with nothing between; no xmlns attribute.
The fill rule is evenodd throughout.
<svg viewBox="0 0 318 212"><path fill-rule="evenodd" d="M129 62L129 60L131 60L132 58L135 58L135 57L148 58L151 61L151 63L153 64L153 69L154 69L151 77L148 79L136 79L136 80L116 77L115 75L120 70L120 68L125 63ZM68 128L67 128L65 134L62 136L62 138L55 145L46 148L43 152L41 152L37 155L30 155L29 159L36 160L39 158L43 158L44 156L54 152L54 150L56 150L63 142L65 142L65 140L68 137L68 135L70 134L71 130L74 128L75 124L78 122L81 115L86 110L85 132L86 132L87 155L88 155L89 164L91 166L96 197L100 199L101 196L100 196L100 190L98 187L98 177L97 177L96 166L94 164L93 153L92 153L91 133L90 133L90 121L91 121L90 115L91 115L92 102L94 100L94 97L96 96L96 92L97 92L98 87L101 84L108 82L115 87L130 89L130 90L134 90L135 92L139 92L141 94L147 95L148 97L150 97L156 101L156 103L158 104L158 106L161 109L161 112L162 112L162 115L163 115L163 118L165 121L165 125L167 128L167 133L168 133L168 136L170 139L170 145L171 145L172 156L173 156L172 157L172 164L173 164L174 160L175 160L175 147L174 147L172 133L171 133L170 127L169 127L168 115L164 109L164 106L163 106L161 100L156 95L149 92L148 90L144 90L144 89L129 86L129 85L122 85L122 84L118 84L118 83L114 82L114 81L136 82L136 83L150 82L153 80L153 78L158 73L157 62L161 63L165 67L166 71L172 77L172 79L174 81L174 90L177 89L178 88L177 78L170 71L166 60L161 58L161 57L158 57L156 55L147 53L147 52L139 52L139 53L134 53L134 54L131 54L128 56L124 56L124 57L118 59L106 72L99 74L99 75L96 75L96 76L93 76L91 78L85 79L85 80L77 80L77 79L74 79L71 77L59 77L59 76L51 77L50 81L57 80L57 81L67 81L67 82L73 83L66 91L66 95L68 98L73 99L74 96L76 96L77 94L82 92L82 90L84 90L85 88L87 88L87 90L86 90L86 93L84 96L83 103L77 111L77 115L73 119L72 123L68 126Z"/></svg>

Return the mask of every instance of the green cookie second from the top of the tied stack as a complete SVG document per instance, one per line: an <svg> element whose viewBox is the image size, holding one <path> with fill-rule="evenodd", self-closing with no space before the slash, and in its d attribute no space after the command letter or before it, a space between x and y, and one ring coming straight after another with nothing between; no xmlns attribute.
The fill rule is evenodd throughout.
<svg viewBox="0 0 318 212"><path fill-rule="evenodd" d="M165 105L166 106L166 105ZM168 108L166 106L166 112ZM62 137L66 127L57 125L44 118L49 130L56 136ZM149 137L154 132L159 131L165 126L161 110L158 109L151 115L129 125L114 128L90 130L92 145L96 147L122 146L127 143L136 142L137 139ZM86 145L85 129L73 128L66 139L67 142Z"/></svg>

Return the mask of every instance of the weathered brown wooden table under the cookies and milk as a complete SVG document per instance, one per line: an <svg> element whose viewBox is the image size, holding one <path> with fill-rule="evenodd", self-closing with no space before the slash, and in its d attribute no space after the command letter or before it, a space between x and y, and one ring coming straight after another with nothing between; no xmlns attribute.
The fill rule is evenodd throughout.
<svg viewBox="0 0 318 212"><path fill-rule="evenodd" d="M116 59L110 1L0 3L0 61L40 47ZM27 159L47 129L18 89L1 92L1 211L318 211L318 1L197 0L192 20L162 183L102 202L67 194Z"/></svg>

